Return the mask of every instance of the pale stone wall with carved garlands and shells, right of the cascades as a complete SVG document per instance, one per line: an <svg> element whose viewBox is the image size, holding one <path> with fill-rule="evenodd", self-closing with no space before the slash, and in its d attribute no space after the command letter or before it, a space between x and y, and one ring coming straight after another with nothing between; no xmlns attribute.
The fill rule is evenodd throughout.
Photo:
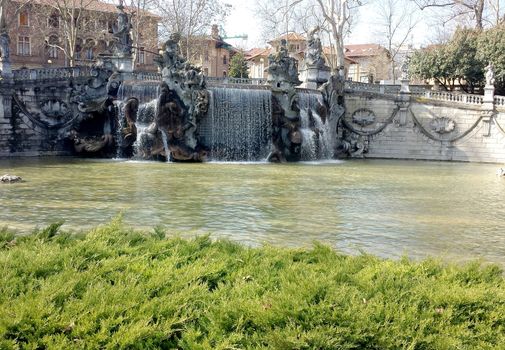
<svg viewBox="0 0 505 350"><path fill-rule="evenodd" d="M460 97L457 97L460 98ZM479 101L351 92L345 126L366 158L505 162L505 110Z"/></svg>

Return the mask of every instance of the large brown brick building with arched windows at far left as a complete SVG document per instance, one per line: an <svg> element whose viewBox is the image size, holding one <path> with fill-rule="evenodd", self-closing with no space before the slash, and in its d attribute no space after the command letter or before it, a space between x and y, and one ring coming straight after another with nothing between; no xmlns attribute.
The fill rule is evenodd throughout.
<svg viewBox="0 0 505 350"><path fill-rule="evenodd" d="M58 11L55 1L13 0L8 3L6 23L14 69L90 65L99 54L112 52L115 44L112 30L119 11L115 5L96 0L79 8L72 1L67 2L67 10L71 12L75 6L74 13L79 13L72 28L66 17L70 12ZM133 50L135 68L156 70L154 57L158 52L159 18L133 8L127 7L125 11L133 18L133 31L135 27L142 29L138 31ZM69 39L72 31L75 38Z"/></svg>

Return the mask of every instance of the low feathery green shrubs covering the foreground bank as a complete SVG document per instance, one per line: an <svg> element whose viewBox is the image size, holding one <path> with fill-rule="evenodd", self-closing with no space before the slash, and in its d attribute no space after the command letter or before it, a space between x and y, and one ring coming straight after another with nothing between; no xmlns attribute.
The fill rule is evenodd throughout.
<svg viewBox="0 0 505 350"><path fill-rule="evenodd" d="M0 239L0 348L497 349L498 267L245 248L118 221Z"/></svg>

